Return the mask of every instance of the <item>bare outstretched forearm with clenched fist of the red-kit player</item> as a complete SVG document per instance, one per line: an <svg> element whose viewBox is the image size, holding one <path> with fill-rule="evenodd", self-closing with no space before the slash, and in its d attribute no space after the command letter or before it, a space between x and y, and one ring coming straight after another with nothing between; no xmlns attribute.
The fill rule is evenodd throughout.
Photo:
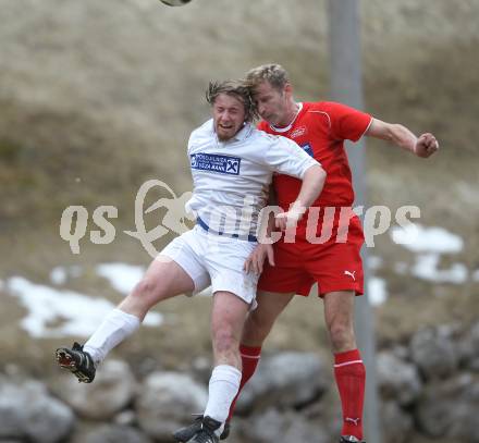
<svg viewBox="0 0 479 443"><path fill-rule="evenodd" d="M402 124L386 123L378 119L372 119L365 135L391 141L421 158L428 158L439 149L439 143L432 134L425 133L416 137Z"/></svg>

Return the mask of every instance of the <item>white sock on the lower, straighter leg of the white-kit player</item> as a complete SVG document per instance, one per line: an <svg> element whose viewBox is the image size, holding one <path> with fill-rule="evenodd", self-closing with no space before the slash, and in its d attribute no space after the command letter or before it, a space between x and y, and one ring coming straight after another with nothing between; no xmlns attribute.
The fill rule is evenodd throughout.
<svg viewBox="0 0 479 443"><path fill-rule="evenodd" d="M211 417L224 424L230 413L230 406L240 390L242 372L235 367L229 365L217 366L209 381L205 417ZM217 430L217 433L220 434L222 430L223 426Z"/></svg>

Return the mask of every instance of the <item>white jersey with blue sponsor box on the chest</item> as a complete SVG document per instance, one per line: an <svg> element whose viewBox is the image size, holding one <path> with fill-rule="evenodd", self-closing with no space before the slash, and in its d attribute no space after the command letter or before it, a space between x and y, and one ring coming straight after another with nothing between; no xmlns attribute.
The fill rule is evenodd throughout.
<svg viewBox="0 0 479 443"><path fill-rule="evenodd" d="M273 173L303 179L319 164L294 141L250 123L220 141L212 119L192 133L188 156L194 189L186 210L212 231L241 237L256 235Z"/></svg>

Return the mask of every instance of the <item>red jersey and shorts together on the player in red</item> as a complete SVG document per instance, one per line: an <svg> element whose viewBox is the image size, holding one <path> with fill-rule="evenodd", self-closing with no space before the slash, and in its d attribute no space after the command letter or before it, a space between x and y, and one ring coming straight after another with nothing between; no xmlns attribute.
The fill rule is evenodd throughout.
<svg viewBox="0 0 479 443"><path fill-rule="evenodd" d="M293 243L283 237L274 244L275 266L265 263L258 288L278 293L308 295L317 282L319 294L336 291L354 291L363 294L363 264L360 248L364 243L363 229L357 217L349 220L347 239L340 242L339 207L351 208L354 201L352 174L344 149L344 140L357 141L372 121L371 115L333 102L303 103L293 123L285 128L274 128L261 122L258 127L267 133L283 135L296 141L318 160L327 179L318 199L311 205L321 207L316 224L316 238L324 243L312 243L306 233L309 212L299 221ZM278 204L287 210L296 200L302 182L288 175L275 175L274 188ZM324 217L324 207L333 207L334 220L331 230Z"/></svg>

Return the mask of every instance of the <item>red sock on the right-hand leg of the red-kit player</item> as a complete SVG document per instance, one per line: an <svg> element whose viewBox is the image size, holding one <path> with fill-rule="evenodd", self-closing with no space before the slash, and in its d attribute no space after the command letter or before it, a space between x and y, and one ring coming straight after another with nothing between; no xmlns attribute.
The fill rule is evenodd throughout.
<svg viewBox="0 0 479 443"><path fill-rule="evenodd" d="M343 406L341 434L363 440L366 369L358 349L334 354L334 377Z"/></svg>

